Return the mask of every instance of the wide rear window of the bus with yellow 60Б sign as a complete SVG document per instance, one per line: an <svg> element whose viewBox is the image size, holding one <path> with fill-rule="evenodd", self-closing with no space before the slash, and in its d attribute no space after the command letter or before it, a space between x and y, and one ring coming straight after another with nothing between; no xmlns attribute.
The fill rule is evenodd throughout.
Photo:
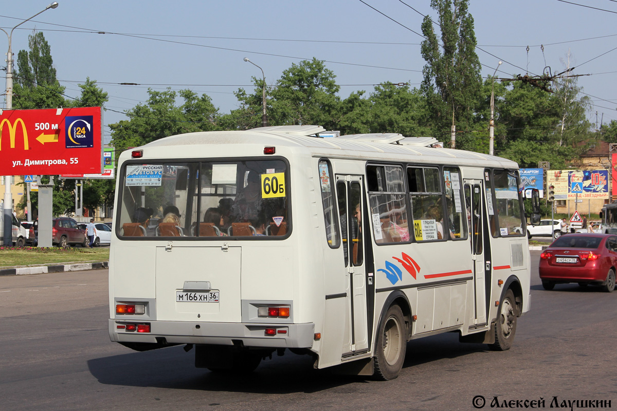
<svg viewBox="0 0 617 411"><path fill-rule="evenodd" d="M149 161L123 168L123 237L268 237L289 229L283 160Z"/></svg>

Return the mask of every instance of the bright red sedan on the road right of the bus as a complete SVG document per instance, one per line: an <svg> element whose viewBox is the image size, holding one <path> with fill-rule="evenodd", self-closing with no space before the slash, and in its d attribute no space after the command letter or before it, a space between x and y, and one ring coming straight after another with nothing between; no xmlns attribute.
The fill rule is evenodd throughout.
<svg viewBox="0 0 617 411"><path fill-rule="evenodd" d="M615 289L617 235L565 234L540 254L540 279L545 290L557 283L602 285L608 293Z"/></svg>

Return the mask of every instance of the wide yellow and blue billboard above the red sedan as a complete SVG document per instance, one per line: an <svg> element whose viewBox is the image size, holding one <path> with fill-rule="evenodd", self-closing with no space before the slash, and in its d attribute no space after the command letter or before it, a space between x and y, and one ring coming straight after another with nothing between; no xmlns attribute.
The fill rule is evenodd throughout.
<svg viewBox="0 0 617 411"><path fill-rule="evenodd" d="M549 170L547 184L555 187L555 200L608 198L608 170L605 169Z"/></svg>

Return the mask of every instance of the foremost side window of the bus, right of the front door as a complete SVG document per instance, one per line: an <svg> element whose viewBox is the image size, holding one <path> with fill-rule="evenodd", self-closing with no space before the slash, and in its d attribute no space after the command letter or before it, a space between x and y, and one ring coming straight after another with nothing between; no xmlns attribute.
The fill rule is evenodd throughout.
<svg viewBox="0 0 617 411"><path fill-rule="evenodd" d="M495 187L495 203L493 204L497 221L499 221L499 235L521 235L523 232L523 213L521 213L520 192L515 171L494 170L493 184ZM494 237L497 230L491 227Z"/></svg>

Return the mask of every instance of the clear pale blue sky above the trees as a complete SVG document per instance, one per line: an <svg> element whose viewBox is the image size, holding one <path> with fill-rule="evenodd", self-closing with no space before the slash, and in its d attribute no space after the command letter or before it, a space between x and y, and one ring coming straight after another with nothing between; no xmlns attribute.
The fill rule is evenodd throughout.
<svg viewBox="0 0 617 411"><path fill-rule="evenodd" d="M191 89L207 94L220 113L238 107L233 92L252 91L251 77L275 84L292 63L325 60L346 98L368 96L386 81L419 87L423 15L437 21L429 0L60 0L15 29L12 49L28 49L43 31L57 78L67 96L86 77L109 93L107 124L147 100L147 89ZM583 6L577 6L576 3ZM10 28L43 10L39 0L3 1L0 27ZM412 9L415 9L413 10ZM471 0L482 76L542 75L570 67L592 100L592 123L617 120L617 1ZM544 46L544 50L542 50ZM529 47L529 51L527 50ZM0 49L8 39L0 33ZM6 63L0 64L4 68ZM0 73L4 76L4 73ZM138 83L122 86L118 83ZM4 107L4 101L0 102Z"/></svg>

